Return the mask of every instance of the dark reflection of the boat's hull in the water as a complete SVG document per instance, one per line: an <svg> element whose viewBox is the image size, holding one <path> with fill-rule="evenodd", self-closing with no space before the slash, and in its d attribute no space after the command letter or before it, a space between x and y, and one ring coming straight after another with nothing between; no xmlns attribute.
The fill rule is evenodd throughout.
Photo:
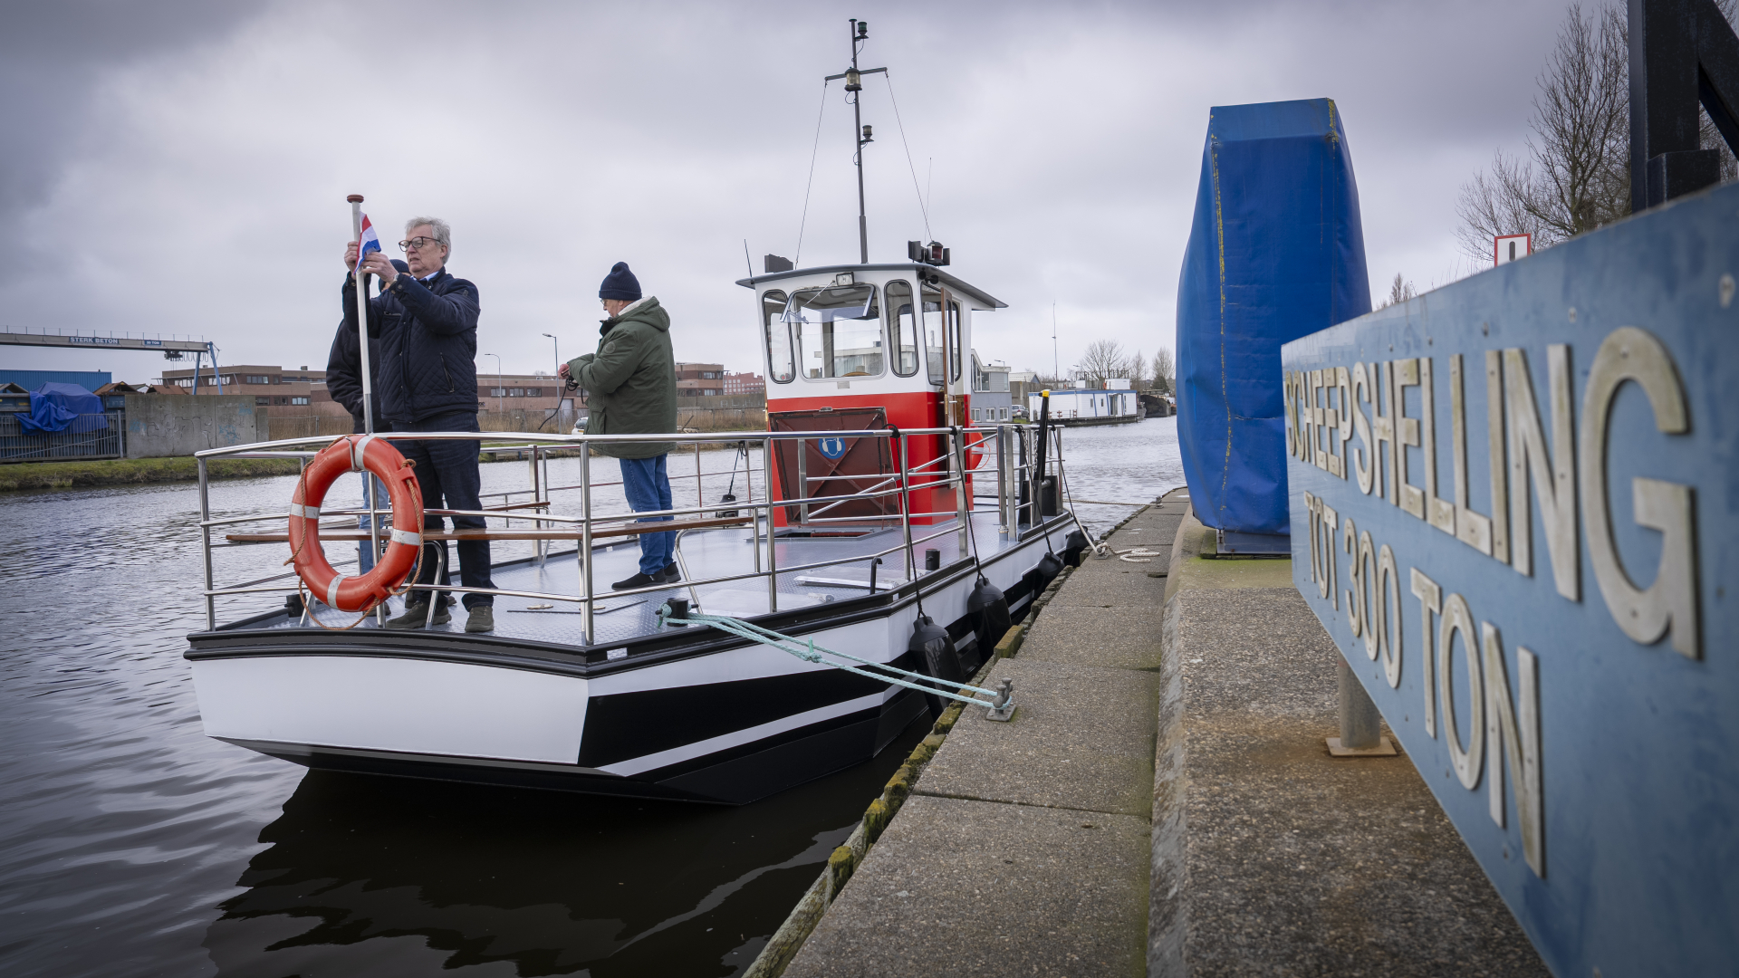
<svg viewBox="0 0 1739 978"><path fill-rule="evenodd" d="M311 771L205 948L237 978L736 975L923 733L743 807Z"/></svg>

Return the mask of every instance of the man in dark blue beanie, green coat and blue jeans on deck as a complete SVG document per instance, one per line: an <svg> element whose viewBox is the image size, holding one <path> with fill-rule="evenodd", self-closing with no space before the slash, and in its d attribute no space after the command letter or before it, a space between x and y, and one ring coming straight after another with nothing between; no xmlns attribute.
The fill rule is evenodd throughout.
<svg viewBox="0 0 1739 978"><path fill-rule="evenodd" d="M598 352L556 367L586 388L588 435L664 435L676 430L676 358L670 348L670 313L657 296L640 298L640 280L617 261L598 289L609 318L598 329ZM623 491L636 513L668 510L671 442L605 442L598 452L623 466ZM671 517L649 517L659 522ZM610 585L616 590L676 581L675 533L640 534L640 573Z"/></svg>

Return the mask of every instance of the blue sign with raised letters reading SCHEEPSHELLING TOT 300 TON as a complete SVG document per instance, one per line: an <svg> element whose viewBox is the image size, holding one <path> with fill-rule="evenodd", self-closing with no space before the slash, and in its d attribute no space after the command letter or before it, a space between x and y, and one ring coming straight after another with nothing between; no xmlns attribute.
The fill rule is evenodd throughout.
<svg viewBox="0 0 1739 978"><path fill-rule="evenodd" d="M1739 962L1736 277L1727 186L1282 350L1294 581L1556 975Z"/></svg>

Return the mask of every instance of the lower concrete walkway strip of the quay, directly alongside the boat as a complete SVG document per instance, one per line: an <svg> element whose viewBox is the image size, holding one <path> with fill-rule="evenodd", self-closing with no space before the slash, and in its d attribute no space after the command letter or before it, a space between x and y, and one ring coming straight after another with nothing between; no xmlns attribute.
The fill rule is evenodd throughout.
<svg viewBox="0 0 1739 978"><path fill-rule="evenodd" d="M1016 679L1014 722L958 717L875 847L803 922L784 975L1144 973L1155 567L1183 513L1174 498L1103 536L1158 557L1087 555L1040 595L998 644L1017 654L981 672ZM1078 625L1094 616L1097 628ZM1148 649L1097 640L1130 633Z"/></svg>

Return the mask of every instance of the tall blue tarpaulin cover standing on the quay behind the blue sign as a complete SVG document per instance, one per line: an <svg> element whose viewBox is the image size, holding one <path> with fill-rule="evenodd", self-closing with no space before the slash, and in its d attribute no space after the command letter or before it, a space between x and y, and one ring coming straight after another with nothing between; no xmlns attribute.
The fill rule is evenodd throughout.
<svg viewBox="0 0 1739 978"><path fill-rule="evenodd" d="M1369 311L1334 101L1209 110L1177 282L1177 444L1196 519L1290 533L1280 345Z"/></svg>

